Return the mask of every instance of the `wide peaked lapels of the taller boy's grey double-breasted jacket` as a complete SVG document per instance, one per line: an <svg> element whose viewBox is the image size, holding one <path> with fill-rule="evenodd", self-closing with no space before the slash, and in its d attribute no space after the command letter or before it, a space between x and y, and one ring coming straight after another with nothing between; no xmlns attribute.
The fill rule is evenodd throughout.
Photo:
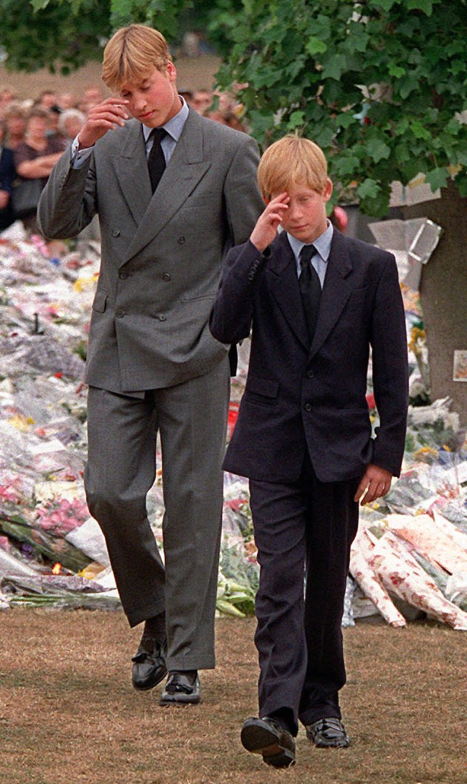
<svg viewBox="0 0 467 784"><path fill-rule="evenodd" d="M142 143L143 160L141 160L139 151L136 151L136 147L132 149L133 157L129 159L129 165L126 166L124 175L127 180L127 190L136 190L135 172L141 170L139 167L142 167L145 175L141 178L143 182L140 183L139 196L132 195L127 198L133 216L137 214L139 220L137 220L136 234L129 245L123 263L129 261L132 256L135 256L145 245L157 237L157 234L172 219L190 193L194 191L197 183L205 176L211 165L203 158L203 125L196 112L192 111L186 119L172 158L170 158L157 191L152 197L144 144Z"/></svg>

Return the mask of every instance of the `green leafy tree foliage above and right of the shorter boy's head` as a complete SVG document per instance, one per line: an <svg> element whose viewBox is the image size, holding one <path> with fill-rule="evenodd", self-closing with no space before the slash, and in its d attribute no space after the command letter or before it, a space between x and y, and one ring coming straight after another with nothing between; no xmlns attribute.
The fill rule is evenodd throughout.
<svg viewBox="0 0 467 784"><path fill-rule="evenodd" d="M393 180L451 176L467 196L465 0L244 0L219 74L241 93L262 146L299 131L357 180L361 209L387 213Z"/></svg>

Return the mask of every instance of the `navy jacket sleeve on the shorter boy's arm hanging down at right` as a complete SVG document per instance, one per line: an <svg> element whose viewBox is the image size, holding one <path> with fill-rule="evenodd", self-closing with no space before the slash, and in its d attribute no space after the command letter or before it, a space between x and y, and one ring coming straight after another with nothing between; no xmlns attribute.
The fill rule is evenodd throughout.
<svg viewBox="0 0 467 784"><path fill-rule="evenodd" d="M382 270L372 312L373 388L380 424L371 462L399 476L407 426L408 361L404 304L394 259Z"/></svg>

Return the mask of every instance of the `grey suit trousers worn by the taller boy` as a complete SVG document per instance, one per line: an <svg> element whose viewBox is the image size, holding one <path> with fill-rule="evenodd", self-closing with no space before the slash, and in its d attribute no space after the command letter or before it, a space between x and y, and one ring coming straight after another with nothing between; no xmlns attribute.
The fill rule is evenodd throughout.
<svg viewBox="0 0 467 784"><path fill-rule="evenodd" d="M168 670L215 666L214 615L230 377L203 376L143 399L89 388L89 511L107 542L130 626L165 609ZM161 436L164 561L147 518Z"/></svg>

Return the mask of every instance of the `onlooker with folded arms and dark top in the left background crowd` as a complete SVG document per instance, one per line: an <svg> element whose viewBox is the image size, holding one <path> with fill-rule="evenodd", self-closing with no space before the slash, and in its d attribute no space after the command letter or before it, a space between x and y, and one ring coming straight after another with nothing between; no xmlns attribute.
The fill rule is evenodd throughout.
<svg viewBox="0 0 467 784"><path fill-rule="evenodd" d="M14 162L18 173L17 187L28 180L38 180L41 187L37 189L38 195L45 186L50 172L63 153L63 140L50 138L47 135L49 130L49 111L43 107L33 107L27 116L25 140L18 144L14 151ZM24 223L24 227L29 232L37 231L36 210L38 198L35 205L31 205L27 210L18 211L15 202L15 189L13 189L13 209Z"/></svg>

